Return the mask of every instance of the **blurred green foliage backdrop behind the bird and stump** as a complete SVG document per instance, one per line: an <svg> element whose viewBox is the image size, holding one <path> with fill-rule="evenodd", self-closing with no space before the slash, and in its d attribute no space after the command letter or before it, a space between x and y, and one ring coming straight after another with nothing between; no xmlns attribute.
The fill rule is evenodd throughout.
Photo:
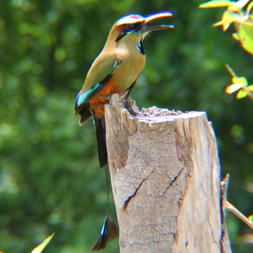
<svg viewBox="0 0 253 253"><path fill-rule="evenodd" d="M203 2L203 1L202 1ZM48 253L90 252L106 204L92 122L78 125L74 96L108 30L129 13L176 14L176 29L145 41L139 106L204 110L217 133L229 199L253 213L253 103L224 94L224 64L253 80L252 56L211 27L222 10L201 1L1 0L0 250L27 253L51 232ZM249 229L228 215L234 252L252 252ZM104 252L117 252L116 241Z"/></svg>

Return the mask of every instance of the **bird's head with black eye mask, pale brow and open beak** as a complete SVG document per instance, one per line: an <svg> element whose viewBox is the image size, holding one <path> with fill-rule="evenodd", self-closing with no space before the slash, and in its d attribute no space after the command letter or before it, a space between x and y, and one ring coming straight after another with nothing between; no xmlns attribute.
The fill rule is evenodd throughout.
<svg viewBox="0 0 253 253"><path fill-rule="evenodd" d="M110 32L110 40L120 41L140 41L145 38L147 34L153 31L167 30L173 28L174 25L156 24L151 23L156 20L171 17L172 13L164 11L160 13L154 13L147 17L130 14L120 18L113 25Z"/></svg>

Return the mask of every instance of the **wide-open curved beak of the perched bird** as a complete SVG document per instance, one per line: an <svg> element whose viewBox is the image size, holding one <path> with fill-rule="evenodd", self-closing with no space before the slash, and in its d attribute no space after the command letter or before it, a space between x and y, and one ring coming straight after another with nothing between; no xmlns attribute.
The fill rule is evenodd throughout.
<svg viewBox="0 0 253 253"><path fill-rule="evenodd" d="M169 11L155 13L155 14L147 16L145 18L142 28L141 28L142 33L145 36L148 33L153 32L153 31L160 31L160 30L167 30L167 29L174 28L174 25L168 25L168 24L167 25L164 25L164 24L162 24L162 25L149 25L149 23L151 23L153 21L156 21L156 20L159 20L162 18L168 18L171 16L173 16L173 14Z"/></svg>

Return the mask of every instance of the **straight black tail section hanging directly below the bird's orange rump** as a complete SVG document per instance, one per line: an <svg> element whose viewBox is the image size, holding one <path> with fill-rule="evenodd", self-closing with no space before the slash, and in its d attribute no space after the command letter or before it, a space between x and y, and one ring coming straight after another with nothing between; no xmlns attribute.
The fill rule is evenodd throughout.
<svg viewBox="0 0 253 253"><path fill-rule="evenodd" d="M94 121L95 121L95 126L96 126L99 164L101 167L106 167L108 158L107 158L107 148L106 148L105 119L98 119L94 116Z"/></svg>

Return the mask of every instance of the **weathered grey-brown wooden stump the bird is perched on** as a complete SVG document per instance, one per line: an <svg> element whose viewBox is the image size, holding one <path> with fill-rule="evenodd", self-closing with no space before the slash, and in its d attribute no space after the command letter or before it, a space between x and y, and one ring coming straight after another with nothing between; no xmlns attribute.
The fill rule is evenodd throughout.
<svg viewBox="0 0 253 253"><path fill-rule="evenodd" d="M118 96L105 112L120 252L230 252L206 114L151 107L133 115Z"/></svg>

